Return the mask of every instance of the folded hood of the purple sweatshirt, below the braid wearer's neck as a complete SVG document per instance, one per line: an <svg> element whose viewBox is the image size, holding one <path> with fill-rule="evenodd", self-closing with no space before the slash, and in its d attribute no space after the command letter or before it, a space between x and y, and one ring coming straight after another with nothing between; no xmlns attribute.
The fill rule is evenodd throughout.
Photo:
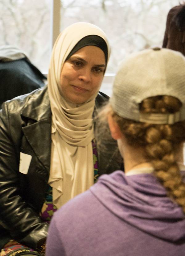
<svg viewBox="0 0 185 256"><path fill-rule="evenodd" d="M176 242L185 238L185 215L153 174L102 175L90 188L110 212L155 237Z"/></svg>

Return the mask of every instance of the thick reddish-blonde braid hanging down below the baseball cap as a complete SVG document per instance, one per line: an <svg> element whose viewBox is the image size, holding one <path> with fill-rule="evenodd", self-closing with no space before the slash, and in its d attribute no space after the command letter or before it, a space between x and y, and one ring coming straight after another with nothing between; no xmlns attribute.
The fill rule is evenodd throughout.
<svg viewBox="0 0 185 256"><path fill-rule="evenodd" d="M162 136L161 125L146 131L146 156L154 166L154 173L166 188L169 196L183 208L185 213L185 183L182 181L175 150L171 141ZM158 136L158 140L153 138ZM151 136L153 138L151 138Z"/></svg>

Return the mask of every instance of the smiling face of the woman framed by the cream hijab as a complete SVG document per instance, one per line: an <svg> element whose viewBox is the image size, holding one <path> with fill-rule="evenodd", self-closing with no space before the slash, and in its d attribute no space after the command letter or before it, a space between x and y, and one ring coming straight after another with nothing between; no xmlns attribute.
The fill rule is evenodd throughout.
<svg viewBox="0 0 185 256"><path fill-rule="evenodd" d="M97 46L84 46L64 62L60 74L66 100L80 104L97 93L104 76L105 55Z"/></svg>

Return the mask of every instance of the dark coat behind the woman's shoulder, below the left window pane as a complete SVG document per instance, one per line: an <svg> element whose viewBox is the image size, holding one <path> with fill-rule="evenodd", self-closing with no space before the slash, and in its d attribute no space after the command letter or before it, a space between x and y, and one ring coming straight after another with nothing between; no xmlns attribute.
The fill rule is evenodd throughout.
<svg viewBox="0 0 185 256"><path fill-rule="evenodd" d="M4 101L44 86L46 77L28 59L0 61L0 108Z"/></svg>

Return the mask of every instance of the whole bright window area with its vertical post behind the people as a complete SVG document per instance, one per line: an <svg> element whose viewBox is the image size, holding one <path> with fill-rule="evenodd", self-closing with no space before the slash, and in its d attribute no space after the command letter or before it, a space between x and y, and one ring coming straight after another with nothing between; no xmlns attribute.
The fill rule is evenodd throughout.
<svg viewBox="0 0 185 256"><path fill-rule="evenodd" d="M101 27L111 44L102 90L111 93L117 65L126 54L161 46L167 13L178 0L0 0L0 45L19 47L47 74L52 45L74 22Z"/></svg>

